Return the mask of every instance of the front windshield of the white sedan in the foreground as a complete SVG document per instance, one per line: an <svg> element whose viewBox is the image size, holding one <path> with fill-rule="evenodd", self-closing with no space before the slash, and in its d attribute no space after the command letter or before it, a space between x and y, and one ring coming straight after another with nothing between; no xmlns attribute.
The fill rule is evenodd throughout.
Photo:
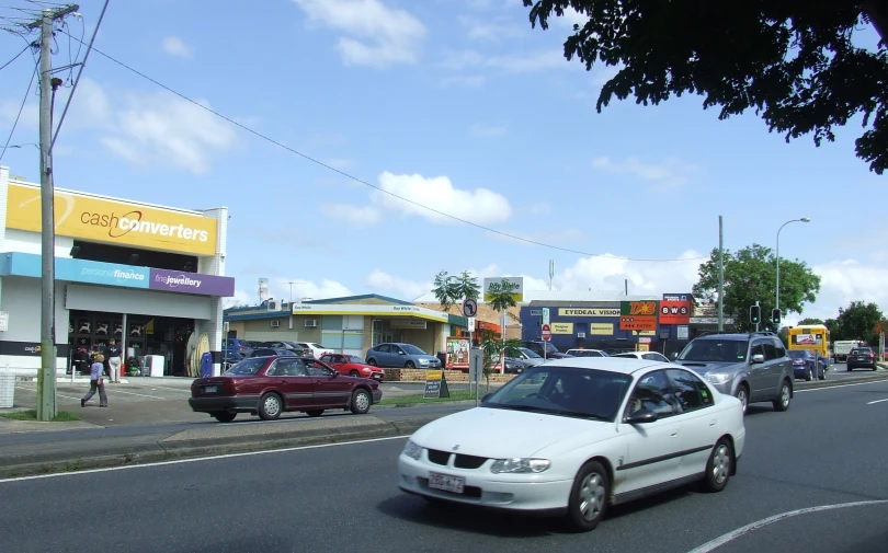
<svg viewBox="0 0 888 553"><path fill-rule="evenodd" d="M613 422L631 377L578 367L539 365L512 379L483 407Z"/></svg>

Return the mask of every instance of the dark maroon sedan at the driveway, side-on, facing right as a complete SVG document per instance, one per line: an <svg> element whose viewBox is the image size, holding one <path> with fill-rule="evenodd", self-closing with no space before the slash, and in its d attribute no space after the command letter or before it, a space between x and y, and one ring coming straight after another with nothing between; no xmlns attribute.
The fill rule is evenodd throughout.
<svg viewBox="0 0 888 553"><path fill-rule="evenodd" d="M382 399L375 380L343 377L312 357L272 356L244 359L220 377L196 379L189 405L230 423L238 413L258 414L264 420L288 411L316 417L341 408L361 415Z"/></svg>

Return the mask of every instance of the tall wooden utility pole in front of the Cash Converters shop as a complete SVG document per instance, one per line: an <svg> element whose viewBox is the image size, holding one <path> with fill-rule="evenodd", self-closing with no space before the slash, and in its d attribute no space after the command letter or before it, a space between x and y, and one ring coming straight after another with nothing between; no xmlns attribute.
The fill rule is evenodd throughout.
<svg viewBox="0 0 888 553"><path fill-rule="evenodd" d="M56 417L56 220L53 185L53 99L60 81L53 79L53 24L76 12L75 4L44 9L30 28L41 30L41 369L37 372L37 420Z"/></svg>

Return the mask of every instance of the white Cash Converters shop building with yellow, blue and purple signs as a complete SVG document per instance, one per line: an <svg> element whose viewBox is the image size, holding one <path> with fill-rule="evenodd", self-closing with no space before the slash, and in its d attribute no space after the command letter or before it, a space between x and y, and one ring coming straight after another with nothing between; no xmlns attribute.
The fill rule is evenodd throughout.
<svg viewBox="0 0 888 553"><path fill-rule="evenodd" d="M0 367L41 365L39 185L0 166ZM187 375L189 341L221 349L228 208L202 211L56 188L55 342L64 373L73 348L114 338L126 357L163 358ZM214 369L218 372L219 365Z"/></svg>

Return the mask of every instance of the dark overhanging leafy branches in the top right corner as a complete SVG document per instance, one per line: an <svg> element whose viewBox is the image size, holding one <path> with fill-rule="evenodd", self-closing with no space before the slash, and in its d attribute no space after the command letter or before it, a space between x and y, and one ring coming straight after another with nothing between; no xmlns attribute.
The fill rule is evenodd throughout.
<svg viewBox="0 0 888 553"><path fill-rule="evenodd" d="M869 170L888 168L888 56L854 44L870 26L888 38L888 1L747 2L699 0L524 0L531 25L548 28L565 11L588 15L573 25L565 57L619 71L602 88L597 111L616 96L653 104L673 95L704 96L719 119L754 110L790 138L834 140L833 128L863 114L856 154Z"/></svg>

